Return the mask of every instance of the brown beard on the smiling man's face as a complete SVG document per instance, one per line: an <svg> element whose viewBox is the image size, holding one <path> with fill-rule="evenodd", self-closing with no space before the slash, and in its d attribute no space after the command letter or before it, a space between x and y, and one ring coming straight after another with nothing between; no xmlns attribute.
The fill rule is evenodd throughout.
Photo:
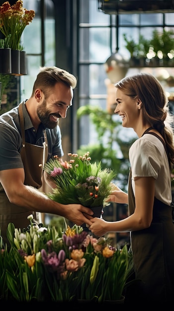
<svg viewBox="0 0 174 311"><path fill-rule="evenodd" d="M37 114L39 119L41 120L44 128L54 129L58 126L58 121L50 121L50 110L46 109L46 101L44 100L43 104L37 108ZM53 113L54 116L61 118L61 116L57 113Z"/></svg>

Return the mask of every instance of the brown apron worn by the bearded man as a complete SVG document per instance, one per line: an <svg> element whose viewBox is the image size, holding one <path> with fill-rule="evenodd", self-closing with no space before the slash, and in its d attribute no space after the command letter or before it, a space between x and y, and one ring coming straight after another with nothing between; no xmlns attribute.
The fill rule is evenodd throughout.
<svg viewBox="0 0 174 311"><path fill-rule="evenodd" d="M31 145L25 142L24 118L22 104L19 105L19 120L22 135L22 149L20 152L25 171L25 185L39 189L42 186L41 177L43 166L48 156L48 143L45 131L45 143L43 147ZM30 198L28 198L30 200ZM37 208L37 206L36 206ZM9 202L0 184L0 230L3 242L7 242L6 229L9 223L13 223L15 228L26 228L30 223L27 219L33 214L36 222L41 222L40 213L27 210L25 207L17 206Z"/></svg>

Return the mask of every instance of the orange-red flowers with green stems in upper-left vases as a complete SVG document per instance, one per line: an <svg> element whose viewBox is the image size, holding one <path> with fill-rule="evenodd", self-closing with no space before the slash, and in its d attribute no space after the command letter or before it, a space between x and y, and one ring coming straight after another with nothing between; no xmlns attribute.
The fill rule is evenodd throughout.
<svg viewBox="0 0 174 311"><path fill-rule="evenodd" d="M0 31L9 37L9 48L21 50L20 39L25 27L33 20L34 10L27 10L23 7L23 1L17 0L10 5L8 1L0 6Z"/></svg>

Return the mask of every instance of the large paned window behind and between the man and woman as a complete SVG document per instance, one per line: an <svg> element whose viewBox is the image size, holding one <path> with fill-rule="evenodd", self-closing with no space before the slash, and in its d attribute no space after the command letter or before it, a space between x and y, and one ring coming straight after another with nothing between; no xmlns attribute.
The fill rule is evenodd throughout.
<svg viewBox="0 0 174 311"><path fill-rule="evenodd" d="M138 43L140 35L151 39L154 29L163 31L165 27L166 30L174 31L174 13L119 14L118 17L116 29L116 15L105 14L99 10L97 0L79 0L79 106L90 104L107 109L108 77L104 64L111 53L116 52L116 48L125 59L129 59L130 54L123 39L124 33ZM137 71L148 71L160 78L165 75L166 69L130 68L127 75ZM168 68L167 72L174 76L173 68ZM170 93L174 92L171 85L164 83L164 86ZM125 137L126 133L127 131L121 132L120 137ZM134 135L133 130L130 130L129 134ZM79 145L95 144L95 139L93 124L88 117L82 117Z"/></svg>

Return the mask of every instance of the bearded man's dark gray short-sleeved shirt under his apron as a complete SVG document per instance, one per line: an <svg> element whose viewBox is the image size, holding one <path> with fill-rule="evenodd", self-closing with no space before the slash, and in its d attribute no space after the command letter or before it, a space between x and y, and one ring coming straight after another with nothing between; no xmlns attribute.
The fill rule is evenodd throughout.
<svg viewBox="0 0 174 311"><path fill-rule="evenodd" d="M19 123L18 107L14 107L8 112L0 116L0 170L21 168L23 167L20 151L22 147L22 137ZM55 129L45 129L40 124L37 132L33 127L25 102L22 103L24 126L25 126L25 142L43 146L44 131L47 133L48 140L48 159L52 156L63 156L61 146L61 132L59 126Z"/></svg>

